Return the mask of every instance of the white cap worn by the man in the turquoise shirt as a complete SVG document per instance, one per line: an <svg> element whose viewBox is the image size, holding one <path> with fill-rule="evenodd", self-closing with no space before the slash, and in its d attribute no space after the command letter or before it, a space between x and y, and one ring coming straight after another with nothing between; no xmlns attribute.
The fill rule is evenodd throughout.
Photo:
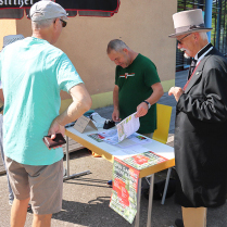
<svg viewBox="0 0 227 227"><path fill-rule="evenodd" d="M67 13L60 4L47 0L36 2L29 14L33 22L58 17L67 20Z"/></svg>

